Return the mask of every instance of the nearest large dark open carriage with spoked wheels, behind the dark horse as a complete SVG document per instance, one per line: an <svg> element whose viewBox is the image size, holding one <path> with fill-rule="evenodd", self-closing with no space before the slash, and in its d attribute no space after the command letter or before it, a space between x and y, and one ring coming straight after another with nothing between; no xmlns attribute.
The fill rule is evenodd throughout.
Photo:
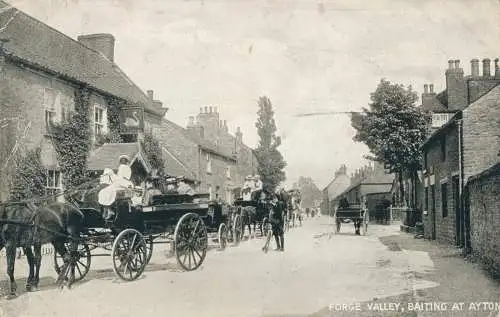
<svg viewBox="0 0 500 317"><path fill-rule="evenodd" d="M154 244L159 243L171 244L177 263L192 271L205 259L208 233L217 233L219 244L225 246L227 219L221 206L209 201L209 194L160 194L147 206L133 206L131 198L136 194L127 190L116 198L112 221L104 220L98 208L80 208L84 228L78 241L69 239L66 243L69 265L63 266L61 254L54 252L54 266L60 276L72 272L74 281L79 281L89 272L92 256L110 255L115 274L125 281L135 280L149 263ZM97 248L110 253L91 254Z"/></svg>

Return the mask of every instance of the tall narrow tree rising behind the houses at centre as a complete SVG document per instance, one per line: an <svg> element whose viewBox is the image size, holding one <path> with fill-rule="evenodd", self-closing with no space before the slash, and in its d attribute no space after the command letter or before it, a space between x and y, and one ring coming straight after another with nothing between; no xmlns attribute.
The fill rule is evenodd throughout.
<svg viewBox="0 0 500 317"><path fill-rule="evenodd" d="M276 122L271 100L268 97L259 98L259 111L257 112L257 133L259 145L255 149L255 156L259 163L257 171L262 178L265 190L274 191L276 186L285 180L286 162L278 150L281 138L276 136Z"/></svg>

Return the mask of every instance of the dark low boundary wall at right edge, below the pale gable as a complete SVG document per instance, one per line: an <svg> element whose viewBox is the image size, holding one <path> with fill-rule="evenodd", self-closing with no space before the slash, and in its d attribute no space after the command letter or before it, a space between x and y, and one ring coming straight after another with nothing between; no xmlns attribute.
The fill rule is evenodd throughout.
<svg viewBox="0 0 500 317"><path fill-rule="evenodd" d="M468 184L471 248L487 268L500 274L500 165Z"/></svg>

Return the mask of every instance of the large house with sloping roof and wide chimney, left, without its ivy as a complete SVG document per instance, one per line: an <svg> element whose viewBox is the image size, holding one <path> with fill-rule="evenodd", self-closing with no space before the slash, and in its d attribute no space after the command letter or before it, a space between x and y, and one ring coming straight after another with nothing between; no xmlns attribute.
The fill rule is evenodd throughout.
<svg viewBox="0 0 500 317"><path fill-rule="evenodd" d="M4 1L0 25L1 159L9 163L12 152L40 147L50 190L62 189L62 177L47 127L74 111L80 91L89 91L94 139L108 132L108 110L115 101L124 108L137 107L145 116L164 116L161 103L144 94L114 63L112 35L74 40ZM0 200L8 197L8 170L0 170Z"/></svg>

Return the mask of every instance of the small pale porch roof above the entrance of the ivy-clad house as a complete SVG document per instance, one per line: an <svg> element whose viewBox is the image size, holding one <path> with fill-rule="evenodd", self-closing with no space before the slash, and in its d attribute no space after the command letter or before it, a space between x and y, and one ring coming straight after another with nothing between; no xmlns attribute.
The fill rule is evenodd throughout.
<svg viewBox="0 0 500 317"><path fill-rule="evenodd" d="M139 160L147 171L151 170L139 143L105 143L90 155L87 169L91 171L113 169L118 165L120 155L127 155L131 160L130 165Z"/></svg>

